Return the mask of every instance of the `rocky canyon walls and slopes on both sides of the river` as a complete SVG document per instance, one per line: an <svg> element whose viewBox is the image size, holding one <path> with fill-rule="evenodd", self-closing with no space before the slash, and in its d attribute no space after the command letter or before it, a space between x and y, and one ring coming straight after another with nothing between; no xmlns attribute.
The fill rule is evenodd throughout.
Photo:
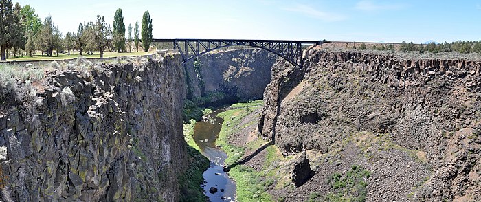
<svg viewBox="0 0 481 202"><path fill-rule="evenodd" d="M205 158L183 122L258 99L231 107L219 137L242 151L226 151L233 179L258 179L236 181L239 201L481 199L480 59L305 54L302 68L258 49L80 61L48 69L29 99L16 79L0 99L1 200L189 201Z"/></svg>

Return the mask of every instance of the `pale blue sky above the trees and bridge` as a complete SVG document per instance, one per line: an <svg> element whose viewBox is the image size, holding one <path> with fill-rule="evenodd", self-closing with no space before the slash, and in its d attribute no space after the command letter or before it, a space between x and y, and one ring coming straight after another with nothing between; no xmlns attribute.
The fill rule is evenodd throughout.
<svg viewBox="0 0 481 202"><path fill-rule="evenodd" d="M13 0L15 2L15 0ZM52 15L65 34L98 14L113 23L122 8L126 27L153 19L154 38L253 38L328 41L481 40L479 1L82 0L19 1L41 19Z"/></svg>

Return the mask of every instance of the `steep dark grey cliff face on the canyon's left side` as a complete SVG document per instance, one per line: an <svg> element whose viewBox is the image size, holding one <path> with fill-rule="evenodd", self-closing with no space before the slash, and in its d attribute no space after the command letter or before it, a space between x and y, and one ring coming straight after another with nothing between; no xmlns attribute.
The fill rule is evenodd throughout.
<svg viewBox="0 0 481 202"><path fill-rule="evenodd" d="M33 104L1 106L0 201L179 200L180 56L93 69L51 73Z"/></svg>

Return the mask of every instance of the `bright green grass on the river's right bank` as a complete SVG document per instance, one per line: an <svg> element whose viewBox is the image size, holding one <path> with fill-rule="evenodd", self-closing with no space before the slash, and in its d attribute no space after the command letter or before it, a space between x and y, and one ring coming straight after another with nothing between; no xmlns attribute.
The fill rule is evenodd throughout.
<svg viewBox="0 0 481 202"><path fill-rule="evenodd" d="M245 116L250 115L262 104L262 100L233 104L229 110L219 113L218 116L222 117L224 122L216 145L221 146L227 153L226 165L238 161L244 155L245 150L256 150L267 143L265 140L258 138L240 147L228 144L227 141L233 133L237 133L240 129L251 124L256 124L255 121L246 124L241 124L241 122ZM282 198L283 196L272 196L267 190L269 187L282 189L292 184L289 176L280 175L282 173L280 170L282 162L287 161L287 159L274 145L265 148L265 152L261 170L257 171L244 165L235 166L230 170L229 175L237 184L238 201L285 201Z"/></svg>

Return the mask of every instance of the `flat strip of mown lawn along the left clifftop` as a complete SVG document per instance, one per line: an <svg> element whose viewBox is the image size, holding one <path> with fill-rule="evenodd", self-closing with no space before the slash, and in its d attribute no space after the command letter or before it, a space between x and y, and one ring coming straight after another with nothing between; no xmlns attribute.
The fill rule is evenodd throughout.
<svg viewBox="0 0 481 202"><path fill-rule="evenodd" d="M110 58L110 57L117 57L117 56L144 56L146 54L151 54L151 52L131 52L131 53L118 53L118 52L104 52L104 58ZM23 60L65 60L65 59L72 59L72 58L78 58L80 54L76 52L76 54L70 53L70 55L67 54L58 54L56 56L52 57L47 57L47 56L41 56L41 54L37 53L36 55L30 57L30 56L23 56L21 58L8 58L7 61L23 61ZM100 58L100 52L93 52L91 55L87 55L85 53L82 53L82 56L85 58Z"/></svg>

